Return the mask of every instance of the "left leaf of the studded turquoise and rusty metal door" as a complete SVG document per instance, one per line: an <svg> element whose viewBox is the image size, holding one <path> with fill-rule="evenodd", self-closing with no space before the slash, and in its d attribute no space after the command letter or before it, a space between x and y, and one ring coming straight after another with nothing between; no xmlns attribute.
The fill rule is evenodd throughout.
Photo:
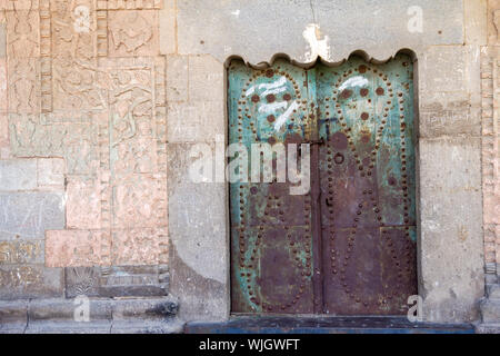
<svg viewBox="0 0 500 356"><path fill-rule="evenodd" d="M250 156L252 144L309 138L306 70L286 61L264 70L233 61L228 79L230 144L244 145ZM291 196L289 187L230 186L234 313L313 313L311 197Z"/></svg>

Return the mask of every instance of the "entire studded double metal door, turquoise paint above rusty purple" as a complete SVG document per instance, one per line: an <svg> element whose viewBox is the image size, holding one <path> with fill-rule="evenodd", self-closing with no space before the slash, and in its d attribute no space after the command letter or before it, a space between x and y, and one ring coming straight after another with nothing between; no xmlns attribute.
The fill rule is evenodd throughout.
<svg viewBox="0 0 500 356"><path fill-rule="evenodd" d="M412 98L402 55L309 70L231 63L230 142L319 144L308 195L231 185L232 312L406 313L417 294Z"/></svg>

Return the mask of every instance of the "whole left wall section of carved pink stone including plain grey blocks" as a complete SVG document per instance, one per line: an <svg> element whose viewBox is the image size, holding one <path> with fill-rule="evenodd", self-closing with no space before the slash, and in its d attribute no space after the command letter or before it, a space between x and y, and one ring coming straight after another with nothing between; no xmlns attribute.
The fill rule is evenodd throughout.
<svg viewBox="0 0 500 356"><path fill-rule="evenodd" d="M1 1L1 297L166 281L161 8Z"/></svg>

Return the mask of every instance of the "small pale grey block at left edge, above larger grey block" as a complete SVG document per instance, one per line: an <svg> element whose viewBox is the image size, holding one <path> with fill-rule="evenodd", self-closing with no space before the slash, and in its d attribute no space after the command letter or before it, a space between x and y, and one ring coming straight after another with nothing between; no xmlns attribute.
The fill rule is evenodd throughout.
<svg viewBox="0 0 500 356"><path fill-rule="evenodd" d="M0 160L0 190L33 190L37 188L37 160Z"/></svg>

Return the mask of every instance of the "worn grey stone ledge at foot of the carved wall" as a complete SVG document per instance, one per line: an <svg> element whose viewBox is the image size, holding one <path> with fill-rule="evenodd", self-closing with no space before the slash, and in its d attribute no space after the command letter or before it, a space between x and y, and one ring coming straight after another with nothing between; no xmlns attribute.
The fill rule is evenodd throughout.
<svg viewBox="0 0 500 356"><path fill-rule="evenodd" d="M0 300L0 334L176 334L176 298L89 298L89 318L77 322L82 310L77 299ZM79 308L79 309L77 309ZM79 314L80 318L82 314Z"/></svg>

